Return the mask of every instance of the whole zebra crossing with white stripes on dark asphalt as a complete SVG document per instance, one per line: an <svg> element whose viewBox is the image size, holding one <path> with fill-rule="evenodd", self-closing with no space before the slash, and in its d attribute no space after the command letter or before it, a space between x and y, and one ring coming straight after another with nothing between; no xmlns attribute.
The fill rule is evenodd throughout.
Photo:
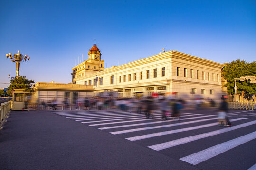
<svg viewBox="0 0 256 170"><path fill-rule="evenodd" d="M59 116L95 127L115 136L122 137L137 144L142 144L152 150L173 154L176 147L187 147L190 143L204 144L204 140L212 139L212 146L199 147L195 153L179 153L178 159L193 165L218 157L222 153L232 150L250 141L256 143L256 120L254 117L237 117L230 114L232 127L218 127L217 114L189 113L180 114L180 121L168 118L161 120L161 111L154 111L152 119L145 119L142 113L130 113L118 110L112 111L55 111ZM235 117L232 117L236 115ZM254 116L254 113L247 115ZM218 139L228 136L228 133L238 133L248 128L248 134L241 133L236 138ZM193 149L194 152L194 149ZM255 163L255 162L254 162ZM251 166L253 166L252 164Z"/></svg>

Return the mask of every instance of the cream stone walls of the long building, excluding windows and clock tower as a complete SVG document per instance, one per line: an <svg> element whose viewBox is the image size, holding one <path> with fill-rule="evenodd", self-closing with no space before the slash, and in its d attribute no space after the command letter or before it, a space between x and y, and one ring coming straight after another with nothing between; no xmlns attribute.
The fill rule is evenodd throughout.
<svg viewBox="0 0 256 170"><path fill-rule="evenodd" d="M179 75L177 75L177 67L180 69ZM87 81L88 85L89 80L91 80L93 85L94 79L98 79L97 84L94 85L95 91L119 90L120 96L123 97L132 97L140 88L145 95L151 95L152 92L164 94L177 92L180 97L192 97L191 89L196 88L197 94L195 96L218 98L218 95L221 95L222 67L222 64L213 61L177 51L168 51L118 67L106 68L103 71L81 77L76 80L76 83L85 84L85 81ZM162 76L162 68L165 68L165 76ZM184 68L187 68L187 77L184 75ZM154 77L154 69L157 69L157 77ZM193 78L190 74L191 69L194 70ZM146 77L147 70L150 72L149 78ZM199 71L198 78L197 71ZM140 72L142 72L142 79L140 79ZM203 72L205 74L204 79ZM134 80L134 73L136 73L136 80ZM210 74L209 80L208 73ZM129 81L129 74L131 74L131 81ZM125 82L123 80L124 75L126 76ZM110 83L110 76L114 77L112 84ZM121 82L119 76L121 76ZM100 78L103 78L103 85L100 85ZM147 90L147 87L153 87L153 90ZM162 90L159 90L158 87L162 87ZM125 92L125 89L131 89L131 91ZM201 95L201 89L205 89L205 94ZM123 92L121 92L122 90ZM213 94L209 94L209 90L213 90Z"/></svg>

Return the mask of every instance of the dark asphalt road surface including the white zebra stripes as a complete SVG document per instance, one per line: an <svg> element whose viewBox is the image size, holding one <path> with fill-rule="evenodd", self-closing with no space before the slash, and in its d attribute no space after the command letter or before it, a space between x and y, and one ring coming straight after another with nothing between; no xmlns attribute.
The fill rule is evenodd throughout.
<svg viewBox="0 0 256 170"><path fill-rule="evenodd" d="M256 163L256 111L182 110L161 121L119 110L11 112L1 170L247 170Z"/></svg>

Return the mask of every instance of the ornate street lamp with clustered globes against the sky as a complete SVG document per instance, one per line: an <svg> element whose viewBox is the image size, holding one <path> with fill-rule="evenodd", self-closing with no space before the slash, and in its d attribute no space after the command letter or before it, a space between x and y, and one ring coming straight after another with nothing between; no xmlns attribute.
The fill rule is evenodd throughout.
<svg viewBox="0 0 256 170"><path fill-rule="evenodd" d="M11 53L6 54L7 59L10 59L12 62L16 62L16 78L19 77L19 66L20 66L20 61L26 62L30 59L30 57L28 57L27 55L22 55L19 54L19 50L17 52L17 54L12 55ZM27 60L28 59L28 60ZM15 77L15 76L11 76L11 77ZM10 78L10 75L8 76L8 78Z"/></svg>

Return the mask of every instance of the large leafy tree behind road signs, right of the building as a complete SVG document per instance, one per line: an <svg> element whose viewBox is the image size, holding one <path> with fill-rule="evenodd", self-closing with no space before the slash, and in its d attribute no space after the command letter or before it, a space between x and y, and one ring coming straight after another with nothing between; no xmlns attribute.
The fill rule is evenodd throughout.
<svg viewBox="0 0 256 170"><path fill-rule="evenodd" d="M227 80L224 85L227 87L228 94L235 94L235 84L234 78L240 78L241 76L255 76L256 75L256 62L247 63L244 60L237 59L227 64L222 70L222 76ZM252 96L256 95L256 84L250 83L249 81L236 81L237 94L244 98L250 100Z"/></svg>

